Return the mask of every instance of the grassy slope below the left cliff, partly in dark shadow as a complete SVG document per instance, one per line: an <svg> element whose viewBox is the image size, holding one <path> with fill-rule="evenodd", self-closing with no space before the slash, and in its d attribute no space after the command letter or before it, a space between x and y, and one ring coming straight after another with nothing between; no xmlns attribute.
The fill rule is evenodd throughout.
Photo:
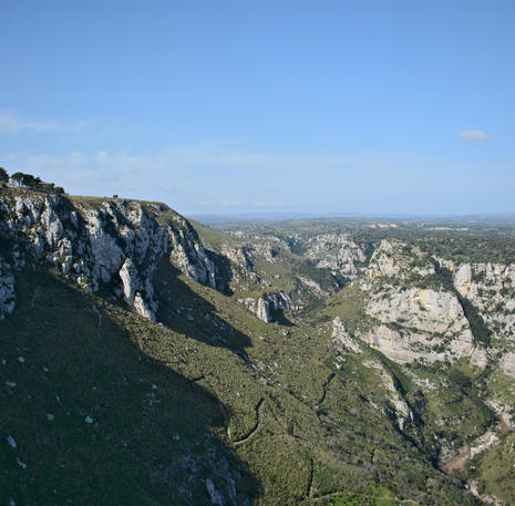
<svg viewBox="0 0 515 506"><path fill-rule="evenodd" d="M384 415L368 355L333 368L328 324L265 324L166 261L155 283L163 326L18 275L0 323L2 500L210 504L205 478L227 492L230 468L239 504L382 504L381 485L473 504Z"/></svg>

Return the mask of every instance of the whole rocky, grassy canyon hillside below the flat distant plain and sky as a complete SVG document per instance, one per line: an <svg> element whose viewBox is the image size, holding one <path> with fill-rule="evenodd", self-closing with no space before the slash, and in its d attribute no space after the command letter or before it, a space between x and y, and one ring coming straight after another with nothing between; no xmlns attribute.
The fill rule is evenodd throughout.
<svg viewBox="0 0 515 506"><path fill-rule="evenodd" d="M461 264L0 197L6 504L480 504L464 479L509 504L487 469L511 448L511 320ZM487 431L498 444L451 474Z"/></svg>

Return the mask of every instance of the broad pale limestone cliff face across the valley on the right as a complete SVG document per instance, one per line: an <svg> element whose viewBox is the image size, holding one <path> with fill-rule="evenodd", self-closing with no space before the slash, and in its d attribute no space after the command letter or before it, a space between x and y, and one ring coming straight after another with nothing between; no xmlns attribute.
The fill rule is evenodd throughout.
<svg viewBox="0 0 515 506"><path fill-rule="evenodd" d="M484 368L486 350L473 333L463 295L453 290L441 266L418 245L382 240L353 281L363 299L354 337L400 363L468 358Z"/></svg>

